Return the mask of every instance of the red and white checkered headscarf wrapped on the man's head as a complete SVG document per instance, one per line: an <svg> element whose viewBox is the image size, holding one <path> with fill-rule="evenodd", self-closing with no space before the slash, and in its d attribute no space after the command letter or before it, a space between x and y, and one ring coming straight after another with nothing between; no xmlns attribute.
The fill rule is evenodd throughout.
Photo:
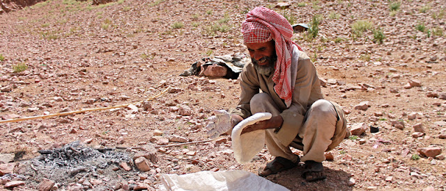
<svg viewBox="0 0 446 191"><path fill-rule="evenodd" d="M263 43L275 41L277 62L272 75L274 90L286 106L291 106L295 79L291 79L291 54L293 53L293 27L282 15L265 7L250 10L242 24L243 40L245 43ZM295 44L300 51L302 48ZM297 68L297 66L295 67ZM295 75L293 75L295 76Z"/></svg>

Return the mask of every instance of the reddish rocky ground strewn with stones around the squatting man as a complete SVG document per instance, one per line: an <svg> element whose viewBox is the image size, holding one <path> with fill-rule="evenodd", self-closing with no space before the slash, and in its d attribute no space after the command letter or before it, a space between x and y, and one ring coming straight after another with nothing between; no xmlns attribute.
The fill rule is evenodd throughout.
<svg viewBox="0 0 446 191"><path fill-rule="evenodd" d="M446 2L279 2L49 0L0 15L2 119L135 103L1 123L2 187L158 190L165 173L256 173L272 159L266 149L239 165L230 138L206 142L203 128L212 110L236 106L238 81L179 74L206 56L246 53L240 23L247 10L266 6L293 23L321 15L315 38L305 32L293 40L314 60L325 99L344 107L357 134L330 152L325 181L305 182L301 166L268 179L290 190L446 190ZM77 140L156 160L138 160L146 172L116 163L65 181L33 176L42 170L29 165L38 151ZM178 142L194 143L167 147Z"/></svg>

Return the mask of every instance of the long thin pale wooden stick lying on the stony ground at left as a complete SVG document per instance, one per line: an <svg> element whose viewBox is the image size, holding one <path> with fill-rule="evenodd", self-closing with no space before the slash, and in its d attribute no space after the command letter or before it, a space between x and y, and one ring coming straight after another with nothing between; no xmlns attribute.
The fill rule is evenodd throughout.
<svg viewBox="0 0 446 191"><path fill-rule="evenodd" d="M169 90L170 86L166 88L166 90L163 90L162 92L153 95L152 97L149 97L148 99L145 99L143 101L151 101L157 97L160 97L162 94L164 94L165 92L167 92L167 90ZM143 101L138 101L135 103L127 103L127 104L123 104L120 106L109 106L109 107L103 107L103 108L89 108L89 109L82 109L82 110L73 110L73 111L68 111L68 112L63 112L63 113L54 113L54 114L49 114L49 115L36 115L36 116L31 116L31 117L21 117L21 118L15 118L15 119L6 119L6 120L1 120L0 124L3 123L10 123L10 122L22 122L25 120L31 120L31 119L38 119L38 118L42 118L45 119L47 117L58 117L58 116L63 116L63 115L71 115L71 114L77 114L77 113L86 113L89 111L95 111L95 110L108 110L108 109L114 109L114 108L124 108L127 107L130 104L137 104L137 103L142 103Z"/></svg>

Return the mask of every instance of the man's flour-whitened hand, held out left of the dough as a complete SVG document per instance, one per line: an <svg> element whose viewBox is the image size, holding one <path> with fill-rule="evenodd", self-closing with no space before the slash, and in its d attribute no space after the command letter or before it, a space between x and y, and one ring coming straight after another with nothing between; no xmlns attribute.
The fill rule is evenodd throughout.
<svg viewBox="0 0 446 191"><path fill-rule="evenodd" d="M238 122L243 120L239 115L231 115L226 110L214 110L214 114L215 116L208 118L210 124L206 126L206 129L209 130L206 134L210 136L211 139L215 139L223 133L226 133L236 126Z"/></svg>

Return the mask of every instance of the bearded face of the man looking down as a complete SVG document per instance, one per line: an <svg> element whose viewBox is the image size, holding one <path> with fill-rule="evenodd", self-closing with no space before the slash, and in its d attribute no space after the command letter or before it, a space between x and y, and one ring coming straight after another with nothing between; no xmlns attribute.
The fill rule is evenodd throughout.
<svg viewBox="0 0 446 191"><path fill-rule="evenodd" d="M259 74L269 75L275 69L277 60L275 42L246 43L252 63Z"/></svg>

